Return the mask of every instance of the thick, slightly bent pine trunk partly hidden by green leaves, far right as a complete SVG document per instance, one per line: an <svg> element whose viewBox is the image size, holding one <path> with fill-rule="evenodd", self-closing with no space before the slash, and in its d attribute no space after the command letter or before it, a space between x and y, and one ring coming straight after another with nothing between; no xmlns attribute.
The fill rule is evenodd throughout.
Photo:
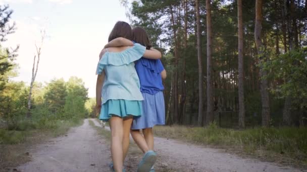
<svg viewBox="0 0 307 172"><path fill-rule="evenodd" d="M255 21L255 43L258 50L258 55L260 60L265 58L265 49L261 41L261 31L262 31L262 0L256 0L256 21ZM264 77L267 75L267 71L263 68L260 68L260 76ZM261 78L260 81L260 92L261 92L261 101L262 101L262 125L265 127L270 126L270 104L269 104L269 93L268 93L268 80L266 78Z"/></svg>

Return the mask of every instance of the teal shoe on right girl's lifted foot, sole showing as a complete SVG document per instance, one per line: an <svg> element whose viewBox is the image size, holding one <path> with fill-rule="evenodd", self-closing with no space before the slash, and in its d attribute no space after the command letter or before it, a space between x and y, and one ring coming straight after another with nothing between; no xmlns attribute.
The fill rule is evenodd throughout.
<svg viewBox="0 0 307 172"><path fill-rule="evenodd" d="M137 165L137 172L144 172L144 171L149 171L152 165L157 160L157 154L156 152L149 150L147 151L141 162Z"/></svg>

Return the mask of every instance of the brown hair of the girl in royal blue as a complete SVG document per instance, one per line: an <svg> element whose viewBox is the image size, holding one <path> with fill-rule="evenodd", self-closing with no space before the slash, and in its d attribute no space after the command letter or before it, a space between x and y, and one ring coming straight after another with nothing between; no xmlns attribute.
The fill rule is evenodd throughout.
<svg viewBox="0 0 307 172"><path fill-rule="evenodd" d="M147 50L151 48L151 44L146 31L141 27L135 27L132 29L133 41L146 47Z"/></svg>

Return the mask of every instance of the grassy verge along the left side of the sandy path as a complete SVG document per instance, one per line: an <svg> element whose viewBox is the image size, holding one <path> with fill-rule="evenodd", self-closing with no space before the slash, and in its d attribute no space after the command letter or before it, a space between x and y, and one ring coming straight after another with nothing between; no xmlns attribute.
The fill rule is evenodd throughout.
<svg viewBox="0 0 307 172"><path fill-rule="evenodd" d="M22 121L16 130L0 129L0 171L10 171L9 167L18 166L31 159L26 152L50 137L64 135L69 128L81 125L83 120L46 120L44 124Z"/></svg>

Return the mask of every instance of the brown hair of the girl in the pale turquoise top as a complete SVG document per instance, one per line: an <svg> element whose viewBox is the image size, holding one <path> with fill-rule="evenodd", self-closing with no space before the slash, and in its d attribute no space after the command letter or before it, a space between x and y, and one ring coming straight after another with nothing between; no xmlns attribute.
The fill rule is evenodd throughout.
<svg viewBox="0 0 307 172"><path fill-rule="evenodd" d="M123 21L116 22L115 26L113 27L108 41L112 41L115 38L123 37L132 41L132 29L131 26Z"/></svg>

